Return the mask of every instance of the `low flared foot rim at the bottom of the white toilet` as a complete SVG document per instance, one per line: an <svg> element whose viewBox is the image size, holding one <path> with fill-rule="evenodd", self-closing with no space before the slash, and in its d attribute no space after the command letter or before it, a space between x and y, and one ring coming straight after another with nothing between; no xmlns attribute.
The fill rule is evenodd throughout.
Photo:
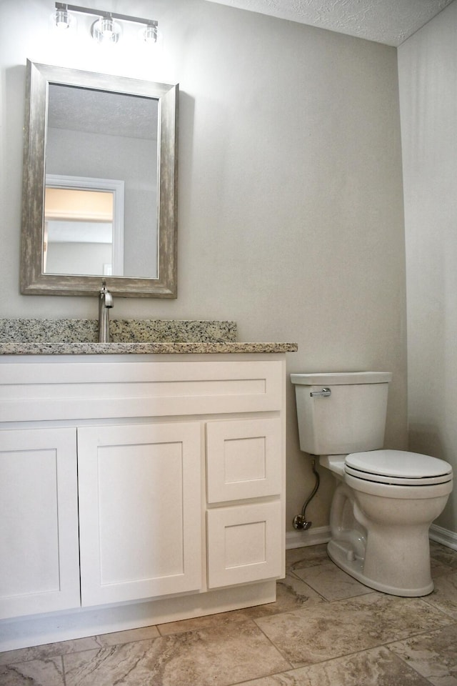
<svg viewBox="0 0 457 686"><path fill-rule="evenodd" d="M421 597L429 595L433 591L433 582L421 588L405 589L397 588L382 584L376 580L370 579L363 573L364 560L361 557L354 555L351 543L346 541L331 540L327 545L328 557L340 567L343 572L361 582L361 584L373 588L376 591L388 593L389 595L399 595L401 597Z"/></svg>

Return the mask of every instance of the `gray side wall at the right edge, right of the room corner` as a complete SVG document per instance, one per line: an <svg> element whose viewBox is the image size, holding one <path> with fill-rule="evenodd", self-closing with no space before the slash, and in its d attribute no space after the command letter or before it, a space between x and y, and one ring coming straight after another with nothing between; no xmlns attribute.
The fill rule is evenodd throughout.
<svg viewBox="0 0 457 686"><path fill-rule="evenodd" d="M457 2L398 50L411 450L457 471ZM421 104L418 110L417 104ZM457 489L438 525L457 532ZM456 544L457 540L453 541Z"/></svg>

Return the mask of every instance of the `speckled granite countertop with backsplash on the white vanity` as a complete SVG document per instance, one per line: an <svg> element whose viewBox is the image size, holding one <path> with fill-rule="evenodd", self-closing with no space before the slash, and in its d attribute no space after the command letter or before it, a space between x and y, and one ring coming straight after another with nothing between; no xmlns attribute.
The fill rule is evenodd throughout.
<svg viewBox="0 0 457 686"><path fill-rule="evenodd" d="M0 319L0 355L296 352L296 343L243 343L236 322L111 319L99 343L96 319Z"/></svg>

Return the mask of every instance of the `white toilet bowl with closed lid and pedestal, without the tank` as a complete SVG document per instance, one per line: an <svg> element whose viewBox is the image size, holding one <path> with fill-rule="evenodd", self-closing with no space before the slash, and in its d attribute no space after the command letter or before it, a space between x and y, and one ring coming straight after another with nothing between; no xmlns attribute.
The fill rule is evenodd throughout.
<svg viewBox="0 0 457 686"><path fill-rule="evenodd" d="M428 529L452 491L451 466L396 450L340 456L339 464L324 457L320 462L338 479L331 560L378 591L405 597L431 593Z"/></svg>

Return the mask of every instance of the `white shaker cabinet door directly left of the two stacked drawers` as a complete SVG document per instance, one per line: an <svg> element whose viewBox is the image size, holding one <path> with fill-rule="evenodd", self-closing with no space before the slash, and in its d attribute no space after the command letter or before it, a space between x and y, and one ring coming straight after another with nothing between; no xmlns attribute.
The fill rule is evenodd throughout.
<svg viewBox="0 0 457 686"><path fill-rule="evenodd" d="M78 429L82 605L201 588L201 425Z"/></svg>

